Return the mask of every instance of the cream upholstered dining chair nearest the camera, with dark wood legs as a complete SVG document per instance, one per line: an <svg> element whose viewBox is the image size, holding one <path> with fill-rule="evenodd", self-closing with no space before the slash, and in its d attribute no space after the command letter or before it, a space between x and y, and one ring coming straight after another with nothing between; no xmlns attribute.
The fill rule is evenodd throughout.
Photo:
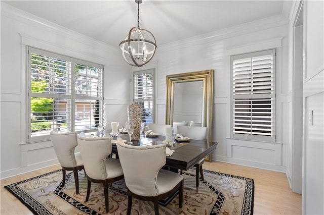
<svg viewBox="0 0 324 215"><path fill-rule="evenodd" d="M133 146L119 137L117 150L128 188L127 214L131 214L132 198L153 201L158 214L158 200L179 191L179 209L183 202L183 176L161 169L166 164L166 145Z"/></svg>

